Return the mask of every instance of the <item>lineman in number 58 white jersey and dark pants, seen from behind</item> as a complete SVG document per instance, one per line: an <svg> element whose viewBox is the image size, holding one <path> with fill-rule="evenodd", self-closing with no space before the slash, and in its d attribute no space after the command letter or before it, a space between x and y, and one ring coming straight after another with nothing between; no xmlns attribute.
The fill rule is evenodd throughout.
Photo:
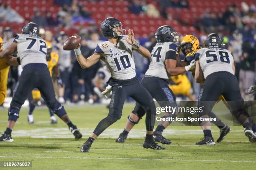
<svg viewBox="0 0 256 170"><path fill-rule="evenodd" d="M198 97L198 107L203 106L203 112L198 112L198 117L205 138L196 145L215 145L210 122L205 118L209 117L208 113L220 95L225 97L231 113L243 125L245 135L251 142L256 141L256 135L249 124L248 113L243 108L233 56L228 50L221 48L221 42L217 34L209 34L205 40L205 48L195 53L195 79L197 82L205 80Z"/></svg>

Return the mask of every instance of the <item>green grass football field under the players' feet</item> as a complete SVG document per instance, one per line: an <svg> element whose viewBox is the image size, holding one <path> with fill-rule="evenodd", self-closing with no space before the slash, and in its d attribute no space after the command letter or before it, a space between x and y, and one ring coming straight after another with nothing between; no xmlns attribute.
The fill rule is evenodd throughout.
<svg viewBox="0 0 256 170"><path fill-rule="evenodd" d="M134 104L124 106L122 118L95 140L90 153L80 153L80 147L97 123L108 114L105 106L65 107L72 122L81 129L83 138L79 141L73 139L61 120L56 125L49 124L49 113L45 107L36 108L35 123L28 125L28 108L24 107L13 130L14 142L0 143L0 161L32 161L32 168L22 169L44 170L256 169L256 143L249 143L240 126L232 126L227 137L215 146L195 146L203 137L198 126L169 126L164 135L172 140L172 144L161 145L166 150L146 150L142 148L146 132L143 118L124 144L115 143L133 107ZM7 109L0 110L2 132L7 119ZM212 134L217 140L218 128L213 127Z"/></svg>

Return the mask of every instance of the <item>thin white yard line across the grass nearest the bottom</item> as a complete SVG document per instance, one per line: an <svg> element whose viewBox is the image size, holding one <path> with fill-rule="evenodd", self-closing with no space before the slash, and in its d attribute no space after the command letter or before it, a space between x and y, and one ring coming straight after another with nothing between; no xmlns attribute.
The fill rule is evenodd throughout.
<svg viewBox="0 0 256 170"><path fill-rule="evenodd" d="M81 153L82 154L82 153ZM0 158L24 158L23 156L0 156ZM185 160L185 159L147 159L147 158L93 158L93 157L44 157L44 156L26 156L26 158L39 159L85 159L85 160L164 160L181 162L225 162L225 163L256 163L250 160Z"/></svg>

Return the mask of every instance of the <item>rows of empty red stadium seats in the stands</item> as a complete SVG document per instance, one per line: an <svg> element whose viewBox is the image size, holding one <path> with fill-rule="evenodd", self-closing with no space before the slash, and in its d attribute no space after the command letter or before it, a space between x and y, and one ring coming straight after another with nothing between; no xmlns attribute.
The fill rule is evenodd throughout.
<svg viewBox="0 0 256 170"><path fill-rule="evenodd" d="M54 4L54 0L2 0L3 3L8 3L15 9L21 16L27 21L33 17L35 9L41 9L42 12L50 10L54 17L59 11L59 6ZM148 3L157 5L157 1L148 0ZM253 0L238 0L237 5L240 8L241 2L252 4ZM129 12L129 3L127 1L118 0L105 0L100 2L87 2L82 1L82 5L92 13L92 18L97 24L100 24L102 20L107 17L115 17L123 22L125 29L130 27L134 29L138 37L148 37L150 33L154 33L155 30L161 25L170 25L175 30L182 34L195 33L199 34L193 24L200 18L204 11L213 11L216 13L224 12L229 4L233 4L233 0L225 1L205 1L205 0L189 0L189 9L187 8L168 8L167 13L172 14L172 20L165 20L161 17L151 18L145 14L135 15ZM74 23L84 24L84 23ZM3 26L10 26L14 32L20 32L19 24L16 23L1 23ZM23 24L22 24L23 25ZM57 30L55 28L50 29L53 32ZM69 35L77 32L75 29L65 30Z"/></svg>

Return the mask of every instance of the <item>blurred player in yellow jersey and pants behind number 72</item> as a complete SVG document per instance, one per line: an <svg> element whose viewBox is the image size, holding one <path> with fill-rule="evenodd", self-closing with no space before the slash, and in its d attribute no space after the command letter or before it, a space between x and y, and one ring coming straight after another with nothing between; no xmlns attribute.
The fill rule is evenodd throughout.
<svg viewBox="0 0 256 170"><path fill-rule="evenodd" d="M63 86L63 83L60 77L59 68L58 68L59 55L56 52L52 52L51 42L46 41L46 46L47 46L46 60L47 60L50 75L52 77L52 72L54 71L55 75L57 76L58 85ZM36 107L36 103L41 99L41 93L37 88L33 89L31 93L32 93L32 96L28 97L29 99L28 123L29 124L34 123L33 110ZM50 113L51 124L57 123L58 120L56 119L56 117L54 117L54 112L50 108L49 108L49 113Z"/></svg>

